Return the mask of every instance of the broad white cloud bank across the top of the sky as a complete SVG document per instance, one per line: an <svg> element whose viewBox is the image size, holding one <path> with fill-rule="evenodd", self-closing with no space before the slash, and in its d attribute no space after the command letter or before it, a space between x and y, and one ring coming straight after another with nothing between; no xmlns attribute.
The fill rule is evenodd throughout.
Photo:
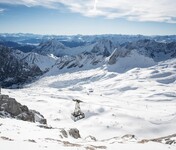
<svg viewBox="0 0 176 150"><path fill-rule="evenodd" d="M55 9L60 9L57 3L61 3L84 16L176 23L176 0L0 0L0 3Z"/></svg>

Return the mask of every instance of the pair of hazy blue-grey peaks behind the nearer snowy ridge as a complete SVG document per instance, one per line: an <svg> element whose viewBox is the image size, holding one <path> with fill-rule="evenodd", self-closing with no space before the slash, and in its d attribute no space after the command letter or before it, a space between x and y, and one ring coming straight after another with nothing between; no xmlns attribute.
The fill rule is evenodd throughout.
<svg viewBox="0 0 176 150"><path fill-rule="evenodd" d="M57 39L49 39L43 41L35 50L42 55L53 54L55 56L61 57L64 55L75 56L83 52L91 52L97 55L109 56L115 48L115 44L110 40L99 40L95 43L89 43L84 46L77 47L66 47Z"/></svg>

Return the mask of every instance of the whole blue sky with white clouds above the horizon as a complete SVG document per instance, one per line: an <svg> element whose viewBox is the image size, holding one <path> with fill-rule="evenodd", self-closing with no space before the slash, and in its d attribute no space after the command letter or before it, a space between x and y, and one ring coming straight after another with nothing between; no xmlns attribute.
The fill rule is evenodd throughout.
<svg viewBox="0 0 176 150"><path fill-rule="evenodd" d="M0 0L0 33L170 35L175 8L175 0Z"/></svg>

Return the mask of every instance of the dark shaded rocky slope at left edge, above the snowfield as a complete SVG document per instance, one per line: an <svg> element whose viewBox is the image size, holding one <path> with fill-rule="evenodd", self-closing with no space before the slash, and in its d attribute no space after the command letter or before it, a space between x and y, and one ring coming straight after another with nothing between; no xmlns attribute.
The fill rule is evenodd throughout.
<svg viewBox="0 0 176 150"><path fill-rule="evenodd" d="M23 84L42 74L39 67L19 61L7 47L0 46L0 54L0 85L2 87Z"/></svg>

